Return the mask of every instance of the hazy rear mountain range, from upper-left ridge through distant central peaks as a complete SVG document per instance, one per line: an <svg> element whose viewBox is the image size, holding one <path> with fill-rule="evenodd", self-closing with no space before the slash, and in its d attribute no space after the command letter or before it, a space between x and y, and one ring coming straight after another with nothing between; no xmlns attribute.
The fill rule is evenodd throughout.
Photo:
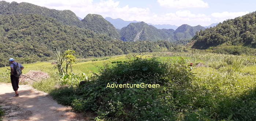
<svg viewBox="0 0 256 121"><path fill-rule="evenodd" d="M101 15L88 14L84 19L79 18L70 10L54 10L30 3L8 3L0 1L0 14L36 14L55 18L58 22L82 29L91 30L96 34L107 35L111 39L123 41L171 41L185 44L196 32L204 30L202 26L189 26L183 24L180 27L173 25L157 25L161 29L145 22L124 21L122 19L103 18ZM110 21L110 22L109 22ZM118 30L114 26L122 27ZM123 27L125 26L125 27ZM164 26L175 27L174 29L162 29ZM177 27L177 29L176 29Z"/></svg>

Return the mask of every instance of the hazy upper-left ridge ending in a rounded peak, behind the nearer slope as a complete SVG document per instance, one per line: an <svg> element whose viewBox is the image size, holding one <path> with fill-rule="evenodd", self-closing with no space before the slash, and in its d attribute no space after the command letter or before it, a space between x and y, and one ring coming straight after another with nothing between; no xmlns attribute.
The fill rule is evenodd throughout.
<svg viewBox="0 0 256 121"><path fill-rule="evenodd" d="M119 33L115 27L105 20L101 15L89 14L82 21L74 12L70 10L54 10L46 7L40 7L38 5L30 3L8 3L6 1L0 1L0 14L37 14L45 15L57 19L60 23L77 26L85 29L92 30L96 33L110 35L113 39L119 39Z"/></svg>

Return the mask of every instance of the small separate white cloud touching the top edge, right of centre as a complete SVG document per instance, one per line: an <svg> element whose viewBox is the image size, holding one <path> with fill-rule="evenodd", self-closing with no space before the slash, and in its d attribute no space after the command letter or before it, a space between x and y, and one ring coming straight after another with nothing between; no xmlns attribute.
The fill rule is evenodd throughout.
<svg viewBox="0 0 256 121"><path fill-rule="evenodd" d="M157 0L160 6L169 8L206 8L208 3L203 0Z"/></svg>

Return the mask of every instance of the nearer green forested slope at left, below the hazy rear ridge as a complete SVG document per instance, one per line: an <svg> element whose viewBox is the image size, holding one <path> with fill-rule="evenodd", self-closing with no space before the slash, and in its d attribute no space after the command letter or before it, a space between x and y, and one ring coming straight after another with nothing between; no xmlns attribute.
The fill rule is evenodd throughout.
<svg viewBox="0 0 256 121"><path fill-rule="evenodd" d="M75 50L79 58L84 58L152 52L171 46L169 42L113 40L44 15L0 15L0 67L10 57L23 58L26 62L48 60L58 47Z"/></svg>

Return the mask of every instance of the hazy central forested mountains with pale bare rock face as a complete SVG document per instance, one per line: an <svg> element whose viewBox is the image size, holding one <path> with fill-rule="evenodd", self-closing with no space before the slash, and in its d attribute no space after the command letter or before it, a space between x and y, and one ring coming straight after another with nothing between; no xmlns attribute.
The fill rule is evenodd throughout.
<svg viewBox="0 0 256 121"><path fill-rule="evenodd" d="M175 31L173 29L157 29L152 25L148 25L145 22L130 23L127 27L123 27L120 30L121 39L123 41L171 41L183 43L189 41L197 31L204 30L205 28L198 26L189 26L183 24Z"/></svg>

